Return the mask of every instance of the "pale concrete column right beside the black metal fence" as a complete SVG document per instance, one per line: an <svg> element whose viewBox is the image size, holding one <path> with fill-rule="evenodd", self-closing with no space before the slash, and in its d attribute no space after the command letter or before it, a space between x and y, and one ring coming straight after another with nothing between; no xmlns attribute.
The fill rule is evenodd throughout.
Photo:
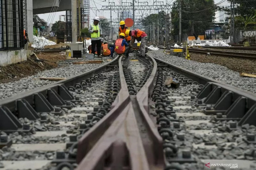
<svg viewBox="0 0 256 170"><path fill-rule="evenodd" d="M33 44L33 0L27 0L27 32L28 32L28 39L30 43L28 44L31 46Z"/></svg>

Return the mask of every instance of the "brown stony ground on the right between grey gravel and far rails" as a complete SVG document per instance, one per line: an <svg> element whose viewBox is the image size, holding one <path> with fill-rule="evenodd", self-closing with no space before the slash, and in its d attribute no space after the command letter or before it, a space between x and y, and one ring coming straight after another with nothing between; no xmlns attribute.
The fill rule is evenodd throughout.
<svg viewBox="0 0 256 170"><path fill-rule="evenodd" d="M230 70L239 73L256 73L256 60L235 58L235 57L222 57L216 55L204 55L198 53L189 53L190 59L200 63L215 63L227 67Z"/></svg>

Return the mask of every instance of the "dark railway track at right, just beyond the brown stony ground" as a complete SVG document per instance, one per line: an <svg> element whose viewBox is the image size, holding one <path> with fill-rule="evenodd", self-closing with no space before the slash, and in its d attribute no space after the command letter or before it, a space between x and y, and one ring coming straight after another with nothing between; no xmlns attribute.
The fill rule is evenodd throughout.
<svg viewBox="0 0 256 170"><path fill-rule="evenodd" d="M174 49L174 48L166 48L166 47L157 47L161 49ZM183 50L186 50L186 48L181 48ZM256 53L242 53L242 52L232 52L232 51L220 51L220 50L211 50L206 48L189 48L189 52L194 53L200 53L200 54L207 54L210 53L210 55L218 55L218 56L226 56L226 57L238 57L238 58L250 58L254 59L256 58Z"/></svg>

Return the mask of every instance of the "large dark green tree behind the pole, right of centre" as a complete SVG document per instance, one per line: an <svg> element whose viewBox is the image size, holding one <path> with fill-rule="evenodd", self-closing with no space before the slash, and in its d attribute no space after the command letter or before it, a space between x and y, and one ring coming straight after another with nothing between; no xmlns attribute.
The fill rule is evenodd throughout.
<svg viewBox="0 0 256 170"><path fill-rule="evenodd" d="M176 0L172 7L172 35L179 35L180 15L179 5L180 0ZM181 4L181 33L188 36L204 35L204 31L213 22L215 11L217 10L214 0L191 0L182 1Z"/></svg>

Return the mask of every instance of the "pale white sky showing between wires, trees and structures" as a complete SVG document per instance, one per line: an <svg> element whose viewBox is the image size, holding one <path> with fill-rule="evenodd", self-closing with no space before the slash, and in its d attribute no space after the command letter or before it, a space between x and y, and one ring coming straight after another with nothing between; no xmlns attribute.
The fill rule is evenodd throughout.
<svg viewBox="0 0 256 170"><path fill-rule="evenodd" d="M90 0L90 6L91 6L90 20L91 21L92 21L92 18L94 18L96 16L96 10L99 10L99 11L97 11L97 16L104 16L104 17L110 19L110 11L100 11L102 5L108 5L109 0L106 1L106 2L105 1L106 0ZM112 0L111 2L113 2L113 1L115 2L115 5L120 5L121 1L123 3L132 2L132 0ZM135 5L138 5L137 1L139 1L139 0L135 0ZM150 5L150 4L153 4L153 1L154 0L148 0L147 2ZM155 2L156 1L160 2L159 0L155 0ZM164 4L166 4L166 3L167 4L172 4L173 3L173 0L161 0L161 1L164 2ZM214 0L215 4L219 3L220 1L222 1L222 0ZM227 5L227 2L223 2L220 5L221 6ZM135 11L135 16L146 14L146 13L149 14L149 11ZM156 10L151 10L150 13L157 13L157 11ZM52 18L53 15L51 15L52 17L50 19L49 19L49 15L50 15L50 13L46 13L46 14L39 14L38 16L40 18L44 19L45 21L47 21L47 23L55 23L56 21L59 21L59 16L60 15L66 15L66 11L56 12L54 18ZM216 16L219 16L218 12L216 12ZM117 11L112 11L112 18L117 18ZM218 18L217 18L217 21L218 21Z"/></svg>

